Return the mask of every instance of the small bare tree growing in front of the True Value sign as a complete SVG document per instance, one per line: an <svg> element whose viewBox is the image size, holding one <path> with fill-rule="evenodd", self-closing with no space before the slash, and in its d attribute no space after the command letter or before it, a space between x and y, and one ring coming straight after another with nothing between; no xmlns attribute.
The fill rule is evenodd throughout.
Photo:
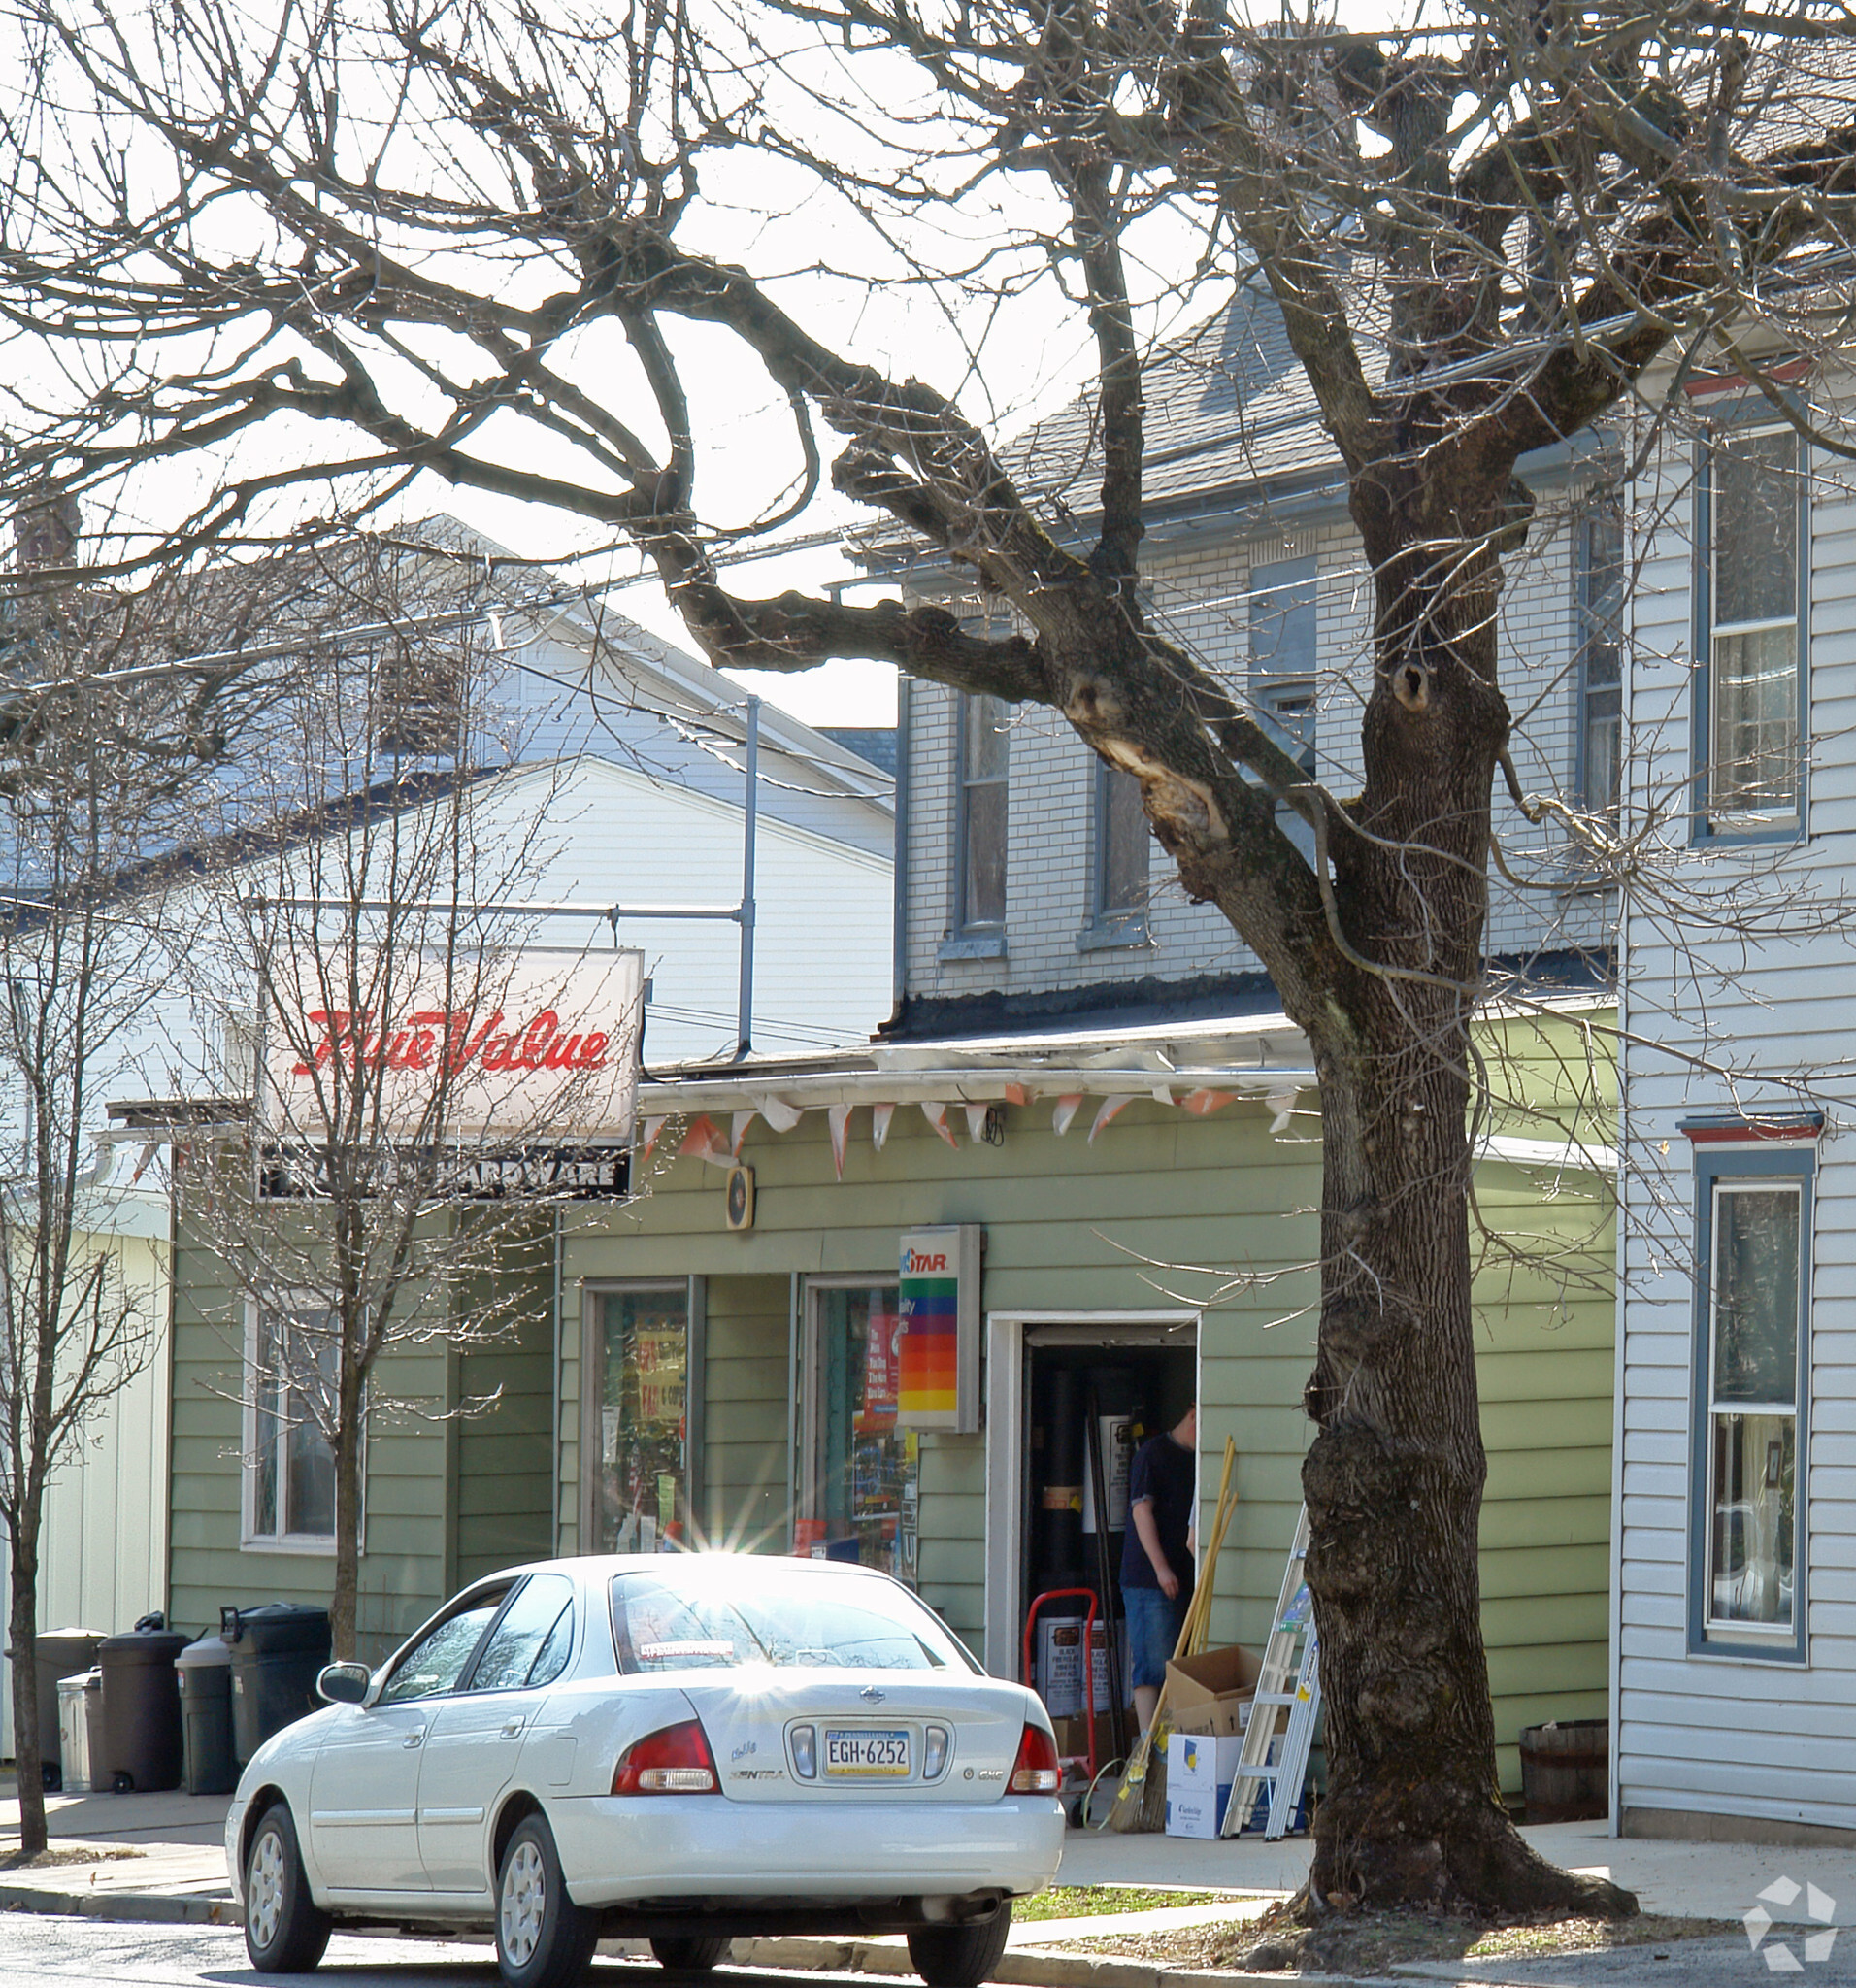
<svg viewBox="0 0 1856 1988"><path fill-rule="evenodd" d="M590 1141L628 1109L640 1000L636 954L550 948L523 914L564 833L560 769L487 744L489 632L415 612L407 567L433 561L360 545L300 569L308 666L236 831L201 851L195 998L213 1087L254 1083L254 1123L191 1147L179 1179L234 1300L248 1529L332 1539L342 1656L368 1429L451 1411L395 1394L393 1356L507 1336L509 1272L552 1246L552 1205L620 1191L622 1151ZM372 634L344 642L356 620Z"/></svg>

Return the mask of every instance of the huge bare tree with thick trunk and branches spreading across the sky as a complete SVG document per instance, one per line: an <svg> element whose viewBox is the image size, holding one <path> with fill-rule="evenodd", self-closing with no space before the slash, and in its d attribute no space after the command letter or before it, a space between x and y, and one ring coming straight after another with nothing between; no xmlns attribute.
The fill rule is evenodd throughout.
<svg viewBox="0 0 1856 1988"><path fill-rule="evenodd" d="M1844 322L1844 20L1500 0L1351 34L1246 26L1222 0L737 0L614 32L491 0L310 0L258 36L211 4L16 6L38 70L6 125L0 310L16 346L68 340L109 376L89 398L22 392L22 461L109 481L231 447L155 535L179 541L264 529L310 467L356 509L417 471L552 505L638 547L717 662L886 658L1047 704L1141 781L1180 885L1270 972L1321 1083L1312 1899L1624 1906L1550 1871L1496 1799L1469 1024L1494 781L1602 875L1627 877L1643 841L1522 789L1498 608L1530 529L1522 457L1610 419L1627 477L1699 370L1848 453L1834 410L1782 392ZM74 105L107 143L62 121ZM773 260L791 233L759 278L727 258L727 199L701 187L751 201L753 175L813 203L799 264L900 284L976 342L962 394L984 400L1015 304L1073 312L1087 519L1015 471L954 384L805 322ZM1369 571L1345 797L1157 626L1141 584L1151 332L1232 284L1278 314ZM791 408L791 485L747 517L697 491L717 342ZM920 598L723 584L717 547L819 493L819 423L841 497L1017 632ZM302 455L258 459L256 433Z"/></svg>

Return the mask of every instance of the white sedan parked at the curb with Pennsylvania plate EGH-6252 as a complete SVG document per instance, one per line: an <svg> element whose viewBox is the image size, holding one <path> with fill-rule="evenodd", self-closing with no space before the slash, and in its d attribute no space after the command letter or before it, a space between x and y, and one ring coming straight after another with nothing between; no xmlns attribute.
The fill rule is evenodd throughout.
<svg viewBox="0 0 1856 1988"><path fill-rule="evenodd" d="M270 1972L360 1924L493 1926L509 1988L566 1988L602 1936L701 1972L739 1934L904 1932L974 1988L1063 1853L1039 1700L868 1569L542 1561L320 1690L227 1815Z"/></svg>

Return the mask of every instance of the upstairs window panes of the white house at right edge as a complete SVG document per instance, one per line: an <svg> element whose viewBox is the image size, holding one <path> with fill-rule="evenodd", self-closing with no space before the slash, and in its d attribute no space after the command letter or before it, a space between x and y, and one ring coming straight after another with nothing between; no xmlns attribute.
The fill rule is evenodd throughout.
<svg viewBox="0 0 1856 1988"><path fill-rule="evenodd" d="M1798 811L1798 437L1739 429L1701 489L1697 755L1709 829L1784 827Z"/></svg>

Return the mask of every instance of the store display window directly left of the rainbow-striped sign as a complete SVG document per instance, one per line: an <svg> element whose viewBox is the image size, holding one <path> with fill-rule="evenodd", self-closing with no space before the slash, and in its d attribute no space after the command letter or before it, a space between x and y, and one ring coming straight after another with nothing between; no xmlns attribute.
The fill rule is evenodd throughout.
<svg viewBox="0 0 1856 1988"><path fill-rule="evenodd" d="M916 1580L920 1437L896 1427L894 1284L811 1286L793 1547Z"/></svg>

